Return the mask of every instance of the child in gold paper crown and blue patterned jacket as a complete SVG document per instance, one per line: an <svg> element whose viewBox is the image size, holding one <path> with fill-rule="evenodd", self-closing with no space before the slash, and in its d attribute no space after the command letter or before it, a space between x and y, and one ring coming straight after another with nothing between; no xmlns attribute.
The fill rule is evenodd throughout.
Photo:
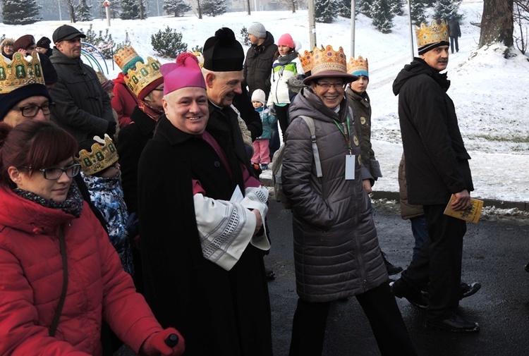
<svg viewBox="0 0 529 356"><path fill-rule="evenodd" d="M118 252L123 269L133 275L132 238L138 234L138 219L135 214L128 215L123 200L119 156L114 142L105 134L104 140L95 136L94 140L80 142L79 149L75 160L81 165L81 176L90 199L107 222L110 242Z"/></svg>

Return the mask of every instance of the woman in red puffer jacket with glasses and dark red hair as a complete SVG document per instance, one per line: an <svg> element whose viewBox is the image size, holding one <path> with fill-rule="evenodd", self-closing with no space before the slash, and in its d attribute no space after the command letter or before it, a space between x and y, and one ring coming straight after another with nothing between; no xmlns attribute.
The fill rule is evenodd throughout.
<svg viewBox="0 0 529 356"><path fill-rule="evenodd" d="M134 352L181 355L73 183L75 139L0 123L0 147L0 355L101 355L103 319Z"/></svg>

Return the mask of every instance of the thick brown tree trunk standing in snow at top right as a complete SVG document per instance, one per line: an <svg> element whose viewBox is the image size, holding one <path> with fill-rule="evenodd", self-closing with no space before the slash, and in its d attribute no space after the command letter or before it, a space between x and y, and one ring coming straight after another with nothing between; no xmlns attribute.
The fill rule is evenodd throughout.
<svg viewBox="0 0 529 356"><path fill-rule="evenodd" d="M479 48L495 42L513 45L513 0L483 1Z"/></svg>

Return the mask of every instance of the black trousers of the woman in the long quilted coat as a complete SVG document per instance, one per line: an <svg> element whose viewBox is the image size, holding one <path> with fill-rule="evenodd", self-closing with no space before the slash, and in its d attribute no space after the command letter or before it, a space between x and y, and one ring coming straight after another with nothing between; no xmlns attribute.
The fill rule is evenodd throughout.
<svg viewBox="0 0 529 356"><path fill-rule="evenodd" d="M356 299L369 320L382 355L417 355L387 283L357 295ZM289 356L322 355L330 306L331 302L316 303L298 299Z"/></svg>

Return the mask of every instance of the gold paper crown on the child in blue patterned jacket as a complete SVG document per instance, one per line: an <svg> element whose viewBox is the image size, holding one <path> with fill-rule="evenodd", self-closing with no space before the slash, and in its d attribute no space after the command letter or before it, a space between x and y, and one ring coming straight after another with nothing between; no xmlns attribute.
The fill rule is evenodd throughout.
<svg viewBox="0 0 529 356"><path fill-rule="evenodd" d="M105 133L104 140L95 136L94 140L97 142L92 145L92 152L81 149L79 156L75 157L75 161L81 165L81 169L87 176L92 176L92 174L109 168L119 159L116 146L114 146L114 142L112 142L109 135Z"/></svg>

